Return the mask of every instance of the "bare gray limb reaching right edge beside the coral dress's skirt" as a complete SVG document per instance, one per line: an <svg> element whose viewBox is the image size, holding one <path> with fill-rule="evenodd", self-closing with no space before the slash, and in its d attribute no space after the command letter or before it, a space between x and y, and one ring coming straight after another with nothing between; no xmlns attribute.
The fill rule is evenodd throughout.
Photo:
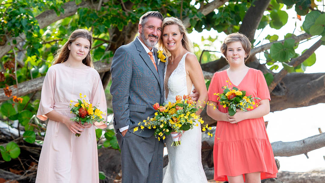
<svg viewBox="0 0 325 183"><path fill-rule="evenodd" d="M305 154L312 150L325 147L325 133L317 134L294 142L273 142L271 145L274 156L290 157Z"/></svg>

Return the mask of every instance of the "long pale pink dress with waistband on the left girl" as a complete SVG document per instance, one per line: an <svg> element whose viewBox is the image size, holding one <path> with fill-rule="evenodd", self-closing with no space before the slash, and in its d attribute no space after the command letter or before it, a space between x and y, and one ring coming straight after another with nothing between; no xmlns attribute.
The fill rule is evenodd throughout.
<svg viewBox="0 0 325 183"><path fill-rule="evenodd" d="M43 82L37 118L46 120L45 114L52 110L74 117L68 106L70 100L74 104L80 99L79 93L86 95L85 100L106 114L105 93L95 69L74 69L62 63L51 66ZM95 125L106 127L102 122ZM76 137L64 123L48 120L36 183L99 183L95 127L84 130Z"/></svg>

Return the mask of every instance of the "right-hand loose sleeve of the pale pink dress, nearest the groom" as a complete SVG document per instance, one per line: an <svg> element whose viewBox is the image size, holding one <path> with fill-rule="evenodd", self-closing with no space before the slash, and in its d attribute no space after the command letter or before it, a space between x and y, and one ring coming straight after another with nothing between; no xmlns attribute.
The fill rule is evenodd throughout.
<svg viewBox="0 0 325 183"><path fill-rule="evenodd" d="M96 71L97 73L97 71ZM107 127L107 104L106 104L106 97L103 88L103 84L100 80L99 74L97 73L96 81L94 82L93 89L91 91L90 96L90 103L93 106L98 106L97 108L103 112L102 117L104 118L105 122L95 122L94 125L100 129L104 129Z"/></svg>

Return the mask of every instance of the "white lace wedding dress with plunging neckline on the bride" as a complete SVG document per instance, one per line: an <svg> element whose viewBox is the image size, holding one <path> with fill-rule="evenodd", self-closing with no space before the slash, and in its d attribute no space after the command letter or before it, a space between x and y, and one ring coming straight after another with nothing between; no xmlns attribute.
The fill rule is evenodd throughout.
<svg viewBox="0 0 325 183"><path fill-rule="evenodd" d="M189 53L189 52L188 52ZM176 102L176 95L188 94L186 85L185 53L168 79L168 96L165 103ZM168 58L165 64L165 74ZM192 86L192 90L194 85ZM166 97L166 91L164 91ZM201 128L194 126L193 129L185 131L181 137L181 145L172 146L171 135L166 138L169 162L167 165L163 183L206 183L207 179L201 162Z"/></svg>

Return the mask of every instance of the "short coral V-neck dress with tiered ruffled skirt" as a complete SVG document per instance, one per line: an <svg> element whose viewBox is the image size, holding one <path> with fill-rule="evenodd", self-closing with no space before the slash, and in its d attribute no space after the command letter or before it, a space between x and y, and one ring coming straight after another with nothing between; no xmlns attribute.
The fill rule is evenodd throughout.
<svg viewBox="0 0 325 183"><path fill-rule="evenodd" d="M222 87L225 85L230 88L235 86L232 83L229 85L226 80L231 83L226 70L216 72L208 91L209 101L217 102L218 110L223 113L228 112L228 107L220 105L218 96L214 93L222 93ZM249 68L246 76L235 87L246 91L246 96L270 100L270 93L260 70ZM258 104L259 100L256 100L256 103ZM218 121L215 135L220 139L214 139L214 180L227 181L227 176L244 176L253 172L261 172L261 179L277 176L278 169L263 117L243 120L238 122L238 125Z"/></svg>

